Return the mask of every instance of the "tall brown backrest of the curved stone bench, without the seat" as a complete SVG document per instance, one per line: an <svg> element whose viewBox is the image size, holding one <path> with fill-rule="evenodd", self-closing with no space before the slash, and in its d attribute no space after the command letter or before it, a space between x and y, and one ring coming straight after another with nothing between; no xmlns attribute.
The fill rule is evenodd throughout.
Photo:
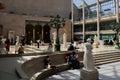
<svg viewBox="0 0 120 80"><path fill-rule="evenodd" d="M65 51L65 52L53 52L48 54L50 56L50 60L51 62L53 62L55 65L59 65L59 64L64 64L66 63L66 59L65 56L68 53L72 53L72 51ZM79 61L83 60L83 52L78 52L76 51L76 53L78 53L79 55ZM34 75L35 73L43 70L45 68L44 66L44 60L46 58L47 55L38 57L38 58L33 58L31 60L26 61L25 63L22 64L22 69L23 71L29 76L31 77L32 75Z"/></svg>

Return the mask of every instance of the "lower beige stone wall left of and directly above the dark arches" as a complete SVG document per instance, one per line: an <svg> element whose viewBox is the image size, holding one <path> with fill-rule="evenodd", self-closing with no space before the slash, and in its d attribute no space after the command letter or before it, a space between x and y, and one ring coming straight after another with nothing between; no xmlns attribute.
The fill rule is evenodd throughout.
<svg viewBox="0 0 120 80"><path fill-rule="evenodd" d="M49 18L0 13L0 24L3 25L3 34L7 37L8 31L15 31L16 35L23 35L25 20L49 21Z"/></svg>

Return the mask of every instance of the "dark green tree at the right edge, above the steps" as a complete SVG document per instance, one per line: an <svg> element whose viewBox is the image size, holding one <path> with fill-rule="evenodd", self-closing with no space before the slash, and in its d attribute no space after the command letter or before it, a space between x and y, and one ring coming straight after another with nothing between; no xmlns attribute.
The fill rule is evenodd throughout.
<svg viewBox="0 0 120 80"><path fill-rule="evenodd" d="M113 22L110 24L113 31L115 31L115 45L117 45L118 48L120 48L119 45L119 33L120 33L120 23Z"/></svg>

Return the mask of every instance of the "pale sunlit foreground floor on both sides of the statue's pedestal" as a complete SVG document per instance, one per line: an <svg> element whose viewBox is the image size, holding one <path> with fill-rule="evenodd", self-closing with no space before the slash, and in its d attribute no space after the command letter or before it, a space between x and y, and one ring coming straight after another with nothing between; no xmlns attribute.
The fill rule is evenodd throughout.
<svg viewBox="0 0 120 80"><path fill-rule="evenodd" d="M100 80L120 80L120 62L99 66ZM80 70L67 70L58 75L50 76L47 80L80 80Z"/></svg>

